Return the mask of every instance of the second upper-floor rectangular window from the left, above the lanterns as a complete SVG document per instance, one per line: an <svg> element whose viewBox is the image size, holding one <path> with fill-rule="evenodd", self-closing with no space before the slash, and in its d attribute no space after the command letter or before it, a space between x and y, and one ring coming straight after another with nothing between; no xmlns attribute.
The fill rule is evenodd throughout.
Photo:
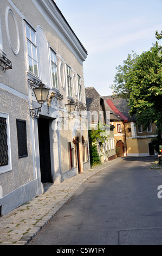
<svg viewBox="0 0 162 256"><path fill-rule="evenodd" d="M57 58L56 58L55 52L51 50L51 48L50 48L50 64L51 64L53 87L58 89Z"/></svg>

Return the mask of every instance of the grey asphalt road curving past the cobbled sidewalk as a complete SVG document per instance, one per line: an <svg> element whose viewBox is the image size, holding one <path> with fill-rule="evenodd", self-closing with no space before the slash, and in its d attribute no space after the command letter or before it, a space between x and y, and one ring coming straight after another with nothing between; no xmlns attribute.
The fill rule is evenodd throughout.
<svg viewBox="0 0 162 256"><path fill-rule="evenodd" d="M94 175L29 245L162 245L154 160L125 159Z"/></svg>

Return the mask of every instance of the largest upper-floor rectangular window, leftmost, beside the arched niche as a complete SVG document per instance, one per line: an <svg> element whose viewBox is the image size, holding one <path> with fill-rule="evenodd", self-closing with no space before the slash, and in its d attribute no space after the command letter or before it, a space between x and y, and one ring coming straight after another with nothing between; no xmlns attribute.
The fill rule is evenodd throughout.
<svg viewBox="0 0 162 256"><path fill-rule="evenodd" d="M38 60L35 31L26 23L29 71L38 76Z"/></svg>

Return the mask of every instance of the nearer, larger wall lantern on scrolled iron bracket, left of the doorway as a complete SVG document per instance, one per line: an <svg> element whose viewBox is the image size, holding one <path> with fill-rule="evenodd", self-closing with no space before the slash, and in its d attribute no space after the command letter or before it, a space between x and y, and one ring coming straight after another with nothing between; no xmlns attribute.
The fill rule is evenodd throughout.
<svg viewBox="0 0 162 256"><path fill-rule="evenodd" d="M38 103L41 104L41 106L38 108L30 109L30 117L37 118L38 112L41 112L41 107L43 103L47 101L47 97L50 89L45 88L43 84L40 84L39 87L34 88L33 90L34 90L36 100Z"/></svg>

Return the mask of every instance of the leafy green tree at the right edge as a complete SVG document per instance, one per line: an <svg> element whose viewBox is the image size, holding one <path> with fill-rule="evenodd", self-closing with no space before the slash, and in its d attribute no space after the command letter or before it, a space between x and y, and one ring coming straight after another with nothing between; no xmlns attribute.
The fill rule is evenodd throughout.
<svg viewBox="0 0 162 256"><path fill-rule="evenodd" d="M162 38L156 32L157 39ZM128 54L123 66L118 66L112 88L117 96L128 100L130 114L136 115L137 123L144 125L155 122L158 126L157 144L162 144L162 54L161 46L156 42L149 51L140 56Z"/></svg>

